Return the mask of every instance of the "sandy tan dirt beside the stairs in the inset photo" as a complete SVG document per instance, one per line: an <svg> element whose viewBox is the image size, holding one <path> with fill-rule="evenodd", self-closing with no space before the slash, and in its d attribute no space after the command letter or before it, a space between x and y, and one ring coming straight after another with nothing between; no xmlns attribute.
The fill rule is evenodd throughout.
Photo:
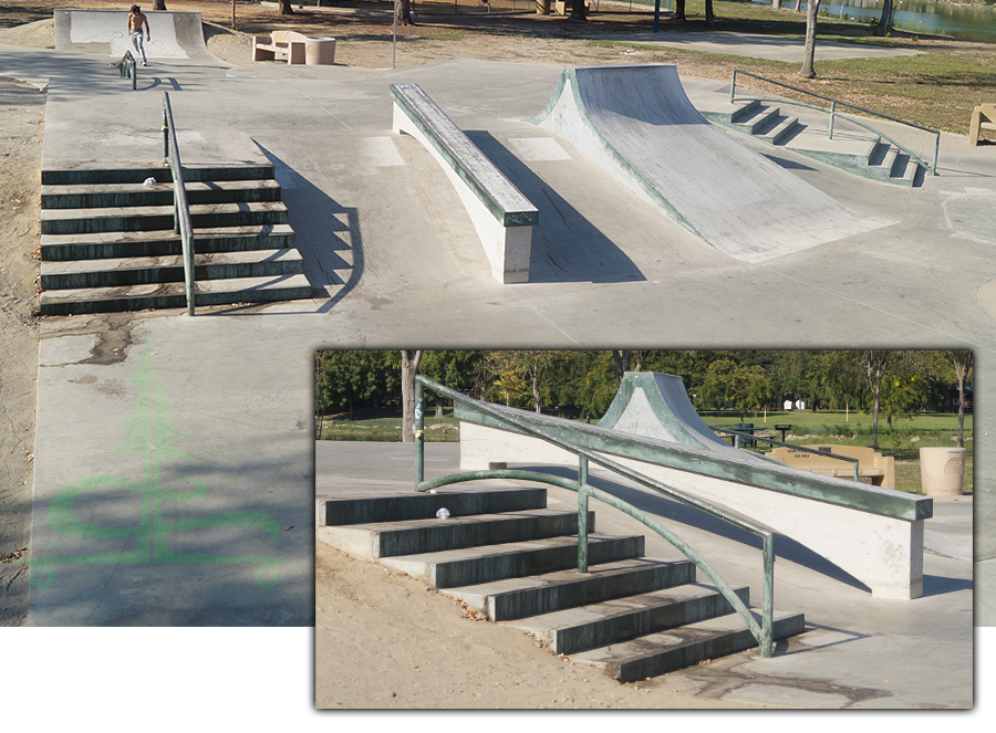
<svg viewBox="0 0 996 733"><path fill-rule="evenodd" d="M321 709L739 709L675 689L620 684L402 573L315 548L315 706ZM370 629L377 628L376 646Z"/></svg>

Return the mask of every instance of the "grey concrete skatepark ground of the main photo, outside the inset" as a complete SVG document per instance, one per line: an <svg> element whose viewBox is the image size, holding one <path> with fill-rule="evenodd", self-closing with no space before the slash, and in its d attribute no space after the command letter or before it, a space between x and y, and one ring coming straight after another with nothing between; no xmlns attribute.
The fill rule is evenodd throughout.
<svg viewBox="0 0 996 733"><path fill-rule="evenodd" d="M993 146L944 135L940 176L912 190L767 149L845 206L894 223L750 265L675 226L570 140L522 122L551 96L554 66L162 60L139 70L133 92L106 57L0 48L0 74L48 84L45 165L158 161L163 91L185 164L272 160L313 287L311 301L205 310L194 320L170 312L44 322L31 554L91 562L53 563L51 577L37 578L30 624L310 624L309 395L319 347L971 346L981 526L996 514L983 473L993 460L986 374L996 365ZM490 278L442 170L391 132L394 82L422 84L539 206L529 283ZM146 458L115 452L133 410L153 394L128 383L143 369L158 375L165 418L183 436L175 443L186 458L156 463L163 489L207 490L200 503L163 500L167 520L201 522L166 538L170 552L197 564L93 562L134 547L93 533L61 535L46 516L58 491L89 481L87 491L105 493L92 523L133 525L141 506L123 488L132 484L100 477L145 480ZM209 517L237 511L253 512L258 524L209 526L222 522ZM276 540L260 532L274 523ZM251 562L220 563L219 555ZM983 625L996 624L994 556L996 537L979 534ZM272 587L263 587L271 577L257 576L263 561L279 561ZM145 591L164 582L168 598Z"/></svg>

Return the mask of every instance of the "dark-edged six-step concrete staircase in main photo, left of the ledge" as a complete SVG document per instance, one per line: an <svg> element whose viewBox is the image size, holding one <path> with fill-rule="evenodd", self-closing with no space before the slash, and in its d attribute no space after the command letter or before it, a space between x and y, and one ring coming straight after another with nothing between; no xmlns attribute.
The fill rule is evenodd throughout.
<svg viewBox="0 0 996 733"><path fill-rule="evenodd" d="M311 296L271 166L184 175L196 305ZM168 168L42 170L41 197L42 314L186 307Z"/></svg>

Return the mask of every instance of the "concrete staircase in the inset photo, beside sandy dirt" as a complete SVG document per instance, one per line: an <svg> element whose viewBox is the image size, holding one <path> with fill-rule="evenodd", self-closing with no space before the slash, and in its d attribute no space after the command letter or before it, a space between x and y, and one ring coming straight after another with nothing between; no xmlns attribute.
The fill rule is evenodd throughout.
<svg viewBox="0 0 996 733"><path fill-rule="evenodd" d="M578 513L546 506L544 489L320 501L317 535L624 682L757 646L689 561L644 557L642 535L594 532L594 512L589 573L578 573ZM449 519L436 519L444 507ZM803 617L776 611L774 626L776 639L799 633Z"/></svg>

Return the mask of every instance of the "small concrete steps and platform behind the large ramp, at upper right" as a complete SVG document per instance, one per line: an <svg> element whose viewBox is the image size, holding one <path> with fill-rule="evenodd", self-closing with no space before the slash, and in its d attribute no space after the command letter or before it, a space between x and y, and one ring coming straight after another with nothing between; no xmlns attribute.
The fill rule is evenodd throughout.
<svg viewBox="0 0 996 733"><path fill-rule="evenodd" d="M817 124L803 123L782 113L780 107L757 100L702 114L709 122L857 176L899 186L914 186L923 180L923 166L911 160L909 155L874 133L844 121L837 122L831 140L828 138L829 116Z"/></svg>

